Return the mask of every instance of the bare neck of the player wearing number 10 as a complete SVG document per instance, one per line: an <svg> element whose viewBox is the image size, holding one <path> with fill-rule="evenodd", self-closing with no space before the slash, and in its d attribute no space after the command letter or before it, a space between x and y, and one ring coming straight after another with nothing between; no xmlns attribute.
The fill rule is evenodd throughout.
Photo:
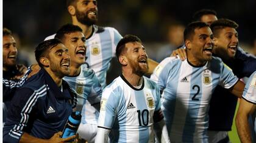
<svg viewBox="0 0 256 143"><path fill-rule="evenodd" d="M124 78L132 85L132 86L138 86L142 84L142 76L139 76L135 73L132 73L131 70L126 71L122 70L122 74Z"/></svg>

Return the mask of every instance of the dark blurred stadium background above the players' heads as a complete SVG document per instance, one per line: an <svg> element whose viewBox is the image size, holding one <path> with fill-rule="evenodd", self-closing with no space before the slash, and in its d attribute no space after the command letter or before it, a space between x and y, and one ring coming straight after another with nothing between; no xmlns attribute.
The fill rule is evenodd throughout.
<svg viewBox="0 0 256 143"><path fill-rule="evenodd" d="M201 8L216 10L218 18L236 21L240 25L240 42L252 47L256 38L255 0L99 0L98 25L115 27L121 35L137 35L155 50L168 43L169 24L187 25ZM71 23L71 18L65 0L3 1L3 26L16 33L16 39L20 38L21 50L33 52L40 41L66 23Z"/></svg>

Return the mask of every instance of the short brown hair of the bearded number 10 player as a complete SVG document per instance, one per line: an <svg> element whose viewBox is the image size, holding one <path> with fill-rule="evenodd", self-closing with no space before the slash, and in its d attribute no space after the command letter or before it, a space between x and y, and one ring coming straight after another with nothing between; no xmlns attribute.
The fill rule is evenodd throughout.
<svg viewBox="0 0 256 143"><path fill-rule="evenodd" d="M121 53L123 52L123 50L126 47L126 44L129 42L141 42L140 38L138 38L137 36L134 35L125 35L119 42L118 45L116 45L116 57L119 58L119 56L121 55Z"/></svg>

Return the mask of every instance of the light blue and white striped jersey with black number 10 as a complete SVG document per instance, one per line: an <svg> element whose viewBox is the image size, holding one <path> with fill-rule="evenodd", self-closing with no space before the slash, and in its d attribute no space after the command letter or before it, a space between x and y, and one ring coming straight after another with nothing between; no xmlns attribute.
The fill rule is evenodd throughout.
<svg viewBox="0 0 256 143"><path fill-rule="evenodd" d="M135 88L121 75L102 93L98 128L111 130L110 142L154 142L153 115L160 106L155 82L143 77Z"/></svg>

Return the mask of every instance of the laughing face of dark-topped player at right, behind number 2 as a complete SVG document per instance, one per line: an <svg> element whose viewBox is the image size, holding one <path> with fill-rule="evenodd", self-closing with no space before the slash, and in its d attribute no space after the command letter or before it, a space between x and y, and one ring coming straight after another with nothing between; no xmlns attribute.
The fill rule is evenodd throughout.
<svg viewBox="0 0 256 143"><path fill-rule="evenodd" d="M238 33L235 28L225 27L215 36L215 53L224 59L235 57L238 47Z"/></svg>

